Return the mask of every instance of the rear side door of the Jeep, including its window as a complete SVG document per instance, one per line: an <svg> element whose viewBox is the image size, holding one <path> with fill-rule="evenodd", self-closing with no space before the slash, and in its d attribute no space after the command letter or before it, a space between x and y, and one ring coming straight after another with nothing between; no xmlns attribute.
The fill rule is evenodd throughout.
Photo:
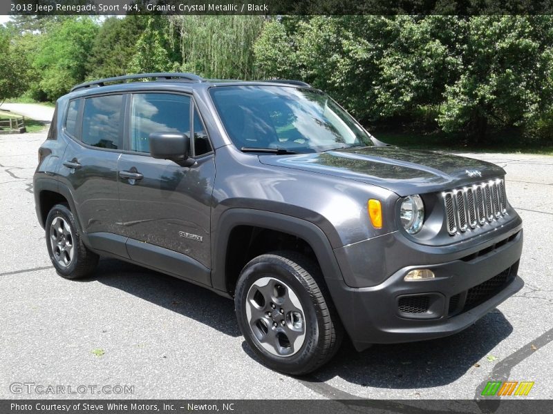
<svg viewBox="0 0 553 414"><path fill-rule="evenodd" d="M77 217L86 233L121 234L117 165L125 99L125 95L115 94L68 103L62 133L71 139L59 175L73 193Z"/></svg>

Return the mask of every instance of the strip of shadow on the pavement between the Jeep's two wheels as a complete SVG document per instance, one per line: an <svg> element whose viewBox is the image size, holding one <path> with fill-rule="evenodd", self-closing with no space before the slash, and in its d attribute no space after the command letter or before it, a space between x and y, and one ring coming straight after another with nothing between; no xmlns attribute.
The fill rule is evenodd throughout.
<svg viewBox="0 0 553 414"><path fill-rule="evenodd" d="M211 326L225 335L241 335L234 315L234 302L206 288L117 259L100 259L92 277L97 281L140 297L180 315Z"/></svg>

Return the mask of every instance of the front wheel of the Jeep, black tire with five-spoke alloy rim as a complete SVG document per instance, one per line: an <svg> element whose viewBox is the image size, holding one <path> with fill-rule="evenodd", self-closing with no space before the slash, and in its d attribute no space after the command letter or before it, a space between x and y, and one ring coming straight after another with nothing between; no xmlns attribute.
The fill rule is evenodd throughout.
<svg viewBox="0 0 553 414"><path fill-rule="evenodd" d="M247 344L275 371L315 371L341 344L343 328L321 270L299 253L252 259L238 278L234 308Z"/></svg>

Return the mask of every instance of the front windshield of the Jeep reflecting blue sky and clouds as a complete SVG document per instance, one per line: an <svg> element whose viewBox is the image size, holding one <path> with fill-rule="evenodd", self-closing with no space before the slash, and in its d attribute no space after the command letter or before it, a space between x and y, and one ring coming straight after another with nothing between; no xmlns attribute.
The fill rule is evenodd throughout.
<svg viewBox="0 0 553 414"><path fill-rule="evenodd" d="M371 137L322 92L287 86L221 86L210 90L238 149L321 152L372 146Z"/></svg>

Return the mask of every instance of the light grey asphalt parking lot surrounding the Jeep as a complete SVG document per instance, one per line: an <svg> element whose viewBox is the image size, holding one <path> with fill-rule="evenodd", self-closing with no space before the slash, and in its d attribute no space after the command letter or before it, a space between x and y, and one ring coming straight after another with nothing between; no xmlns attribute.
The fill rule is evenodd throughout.
<svg viewBox="0 0 553 414"><path fill-rule="evenodd" d="M88 398L473 398L488 380L534 381L529 397L553 397L553 157L467 154L507 170L525 221L521 292L458 335L364 353L346 343L294 378L256 362L228 299L113 259L81 282L57 276L32 195L45 137L0 137L0 398L75 397L10 391L24 382L134 386Z"/></svg>

